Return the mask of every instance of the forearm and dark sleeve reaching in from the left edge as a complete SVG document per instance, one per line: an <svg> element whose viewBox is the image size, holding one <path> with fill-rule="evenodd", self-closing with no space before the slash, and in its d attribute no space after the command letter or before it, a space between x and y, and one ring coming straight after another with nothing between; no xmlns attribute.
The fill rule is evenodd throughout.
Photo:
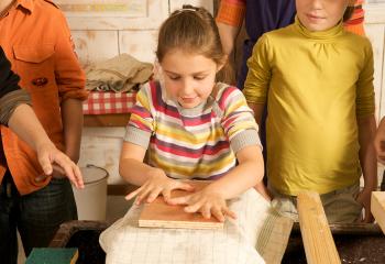
<svg viewBox="0 0 385 264"><path fill-rule="evenodd" d="M19 76L0 46L0 123L9 125L23 141L37 153L38 163L46 175L53 172L53 164L61 166L77 188L82 188L81 173L78 166L63 152L56 148L38 122L31 105L30 96L19 87ZM0 187L0 193L3 190Z"/></svg>

